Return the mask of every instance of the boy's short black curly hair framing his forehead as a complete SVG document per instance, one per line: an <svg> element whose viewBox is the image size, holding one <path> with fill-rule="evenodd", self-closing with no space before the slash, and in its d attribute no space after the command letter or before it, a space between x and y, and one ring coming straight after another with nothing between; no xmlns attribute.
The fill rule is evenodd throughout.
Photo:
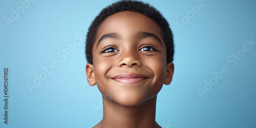
<svg viewBox="0 0 256 128"><path fill-rule="evenodd" d="M162 29L163 40L167 48L166 61L172 62L174 57L174 40L173 33L170 30L167 20L163 15L153 6L145 4L140 1L119 1L104 9L95 17L91 26L89 27L86 39L86 58L87 62L93 64L92 47L96 41L96 36L101 23L110 15L113 15L121 11L134 11L144 14L147 17L153 19Z"/></svg>

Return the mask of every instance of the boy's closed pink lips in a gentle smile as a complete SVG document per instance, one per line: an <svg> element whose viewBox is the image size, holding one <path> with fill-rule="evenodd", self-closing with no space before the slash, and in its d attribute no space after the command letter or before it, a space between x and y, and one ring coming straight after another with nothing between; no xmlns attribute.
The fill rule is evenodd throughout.
<svg viewBox="0 0 256 128"><path fill-rule="evenodd" d="M148 77L137 73L123 73L112 77L111 79L121 83L138 83Z"/></svg>

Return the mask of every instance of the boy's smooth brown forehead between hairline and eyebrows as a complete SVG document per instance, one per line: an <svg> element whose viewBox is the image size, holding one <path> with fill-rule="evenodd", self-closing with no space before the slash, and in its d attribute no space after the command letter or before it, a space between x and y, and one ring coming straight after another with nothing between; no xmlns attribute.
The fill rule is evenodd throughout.
<svg viewBox="0 0 256 128"><path fill-rule="evenodd" d="M153 33L162 38L161 28L153 19L138 12L122 11L109 16L102 22L96 41L104 34L119 33L127 37L139 31Z"/></svg>

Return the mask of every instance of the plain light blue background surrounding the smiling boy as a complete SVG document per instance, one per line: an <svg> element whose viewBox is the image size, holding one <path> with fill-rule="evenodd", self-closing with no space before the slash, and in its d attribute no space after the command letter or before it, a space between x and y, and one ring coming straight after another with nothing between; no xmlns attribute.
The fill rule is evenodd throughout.
<svg viewBox="0 0 256 128"><path fill-rule="evenodd" d="M85 38L66 58L61 50L71 48L76 35L85 37L94 17L113 2L37 0L9 27L4 17L11 18L22 4L0 2L0 127L92 127L102 119L101 94L86 79ZM179 29L175 24L199 0L145 2L168 20L176 45L174 78L158 94L156 121L162 127L256 127L256 45L241 55L245 39L256 42L256 1L205 0ZM231 66L227 58L237 52L241 60ZM52 61L58 68L30 93L27 84ZM200 97L204 80L213 80L212 72L222 66L228 73ZM3 122L5 67L8 124Z"/></svg>

